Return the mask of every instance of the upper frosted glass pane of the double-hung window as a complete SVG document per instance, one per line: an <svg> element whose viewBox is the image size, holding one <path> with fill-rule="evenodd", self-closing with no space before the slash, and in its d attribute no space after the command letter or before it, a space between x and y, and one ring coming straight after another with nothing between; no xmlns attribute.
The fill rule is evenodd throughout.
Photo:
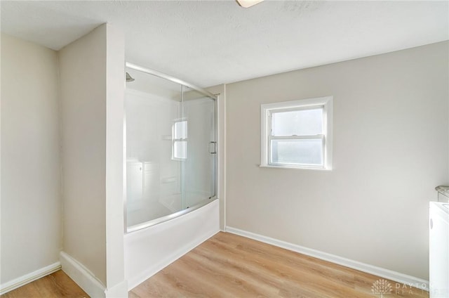
<svg viewBox="0 0 449 298"><path fill-rule="evenodd" d="M323 108L274 112L272 136L314 136L323 134Z"/></svg>

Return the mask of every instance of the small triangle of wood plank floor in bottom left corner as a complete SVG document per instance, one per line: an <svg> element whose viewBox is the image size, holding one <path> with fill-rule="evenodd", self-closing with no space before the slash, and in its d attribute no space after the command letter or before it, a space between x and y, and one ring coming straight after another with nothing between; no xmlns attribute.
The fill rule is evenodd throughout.
<svg viewBox="0 0 449 298"><path fill-rule="evenodd" d="M88 294L59 270L0 296L1 298L88 298Z"/></svg>

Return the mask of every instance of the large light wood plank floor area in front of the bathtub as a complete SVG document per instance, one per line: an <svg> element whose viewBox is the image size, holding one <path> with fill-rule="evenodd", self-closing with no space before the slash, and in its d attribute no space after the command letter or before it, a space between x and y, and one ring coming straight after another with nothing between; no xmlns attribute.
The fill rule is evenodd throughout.
<svg viewBox="0 0 449 298"><path fill-rule="evenodd" d="M243 238L218 233L129 292L147 297L429 297L415 287ZM376 288L374 288L375 290Z"/></svg>

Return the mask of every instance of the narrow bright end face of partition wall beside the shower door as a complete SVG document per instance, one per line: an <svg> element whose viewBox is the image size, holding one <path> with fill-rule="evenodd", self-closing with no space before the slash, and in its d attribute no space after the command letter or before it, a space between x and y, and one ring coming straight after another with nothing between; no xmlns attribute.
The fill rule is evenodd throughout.
<svg viewBox="0 0 449 298"><path fill-rule="evenodd" d="M106 24L106 297L128 297L125 280L123 196L123 117L125 37Z"/></svg>

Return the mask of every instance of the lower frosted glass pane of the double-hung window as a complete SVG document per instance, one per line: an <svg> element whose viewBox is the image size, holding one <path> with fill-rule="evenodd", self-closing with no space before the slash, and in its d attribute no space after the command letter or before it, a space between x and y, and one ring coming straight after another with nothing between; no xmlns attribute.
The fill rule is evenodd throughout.
<svg viewBox="0 0 449 298"><path fill-rule="evenodd" d="M321 138L300 140L272 140L273 164L323 165L323 141Z"/></svg>

